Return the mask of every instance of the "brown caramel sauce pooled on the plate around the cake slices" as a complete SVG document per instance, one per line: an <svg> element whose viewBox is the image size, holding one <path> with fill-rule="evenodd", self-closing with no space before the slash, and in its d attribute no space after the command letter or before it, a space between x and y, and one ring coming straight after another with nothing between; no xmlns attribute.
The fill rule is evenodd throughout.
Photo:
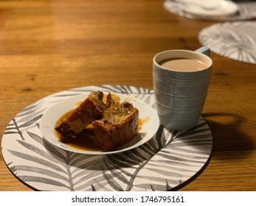
<svg viewBox="0 0 256 206"><path fill-rule="evenodd" d="M58 121L56 121L55 125L59 124L60 121L63 121L63 118L69 115L72 110L68 111L67 113L64 113L63 116L60 116ZM138 127L139 131L142 131L143 125L150 120L150 116L147 116L145 118L139 118ZM66 141L62 138L62 136L54 129L55 136L59 139L60 142L65 143L68 146L71 146L74 149L80 149L84 151L90 151L90 152L100 152L101 149L97 144L94 142L94 128L91 124L89 124L85 129L83 129L83 132L81 132L79 135L77 135L77 138L75 138L75 141Z"/></svg>

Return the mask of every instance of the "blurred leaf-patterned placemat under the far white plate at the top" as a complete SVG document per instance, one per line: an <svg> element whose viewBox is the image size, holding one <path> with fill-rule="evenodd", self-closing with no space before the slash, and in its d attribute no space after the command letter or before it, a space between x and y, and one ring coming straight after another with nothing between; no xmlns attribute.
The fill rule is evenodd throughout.
<svg viewBox="0 0 256 206"><path fill-rule="evenodd" d="M241 1L236 2L239 12L230 16L197 16L186 12L186 4L182 4L179 0L165 0L164 7L170 13L193 19L203 19L210 21L241 21L249 20L256 17L256 2Z"/></svg>

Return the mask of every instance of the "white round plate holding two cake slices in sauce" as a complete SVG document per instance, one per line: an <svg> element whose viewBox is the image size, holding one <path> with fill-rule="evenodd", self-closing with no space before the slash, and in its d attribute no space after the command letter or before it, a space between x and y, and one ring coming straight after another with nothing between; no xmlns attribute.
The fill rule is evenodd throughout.
<svg viewBox="0 0 256 206"><path fill-rule="evenodd" d="M40 121L41 133L46 141L70 152L77 152L81 154L114 154L117 152L124 152L129 149L134 149L137 146L141 146L143 143L146 143L151 138L153 138L153 135L155 135L157 129L159 129L159 117L156 114L156 111L153 110L153 108L149 104L146 104L145 102L142 102L141 100L136 99L133 96L127 96L122 93L117 93L117 95L120 96L121 102L126 100L133 104L134 107L139 110L140 119L148 119L148 121L145 121L145 123L142 125L142 129L133 140L126 143L124 146L122 146L122 148L111 152L77 149L75 147L69 146L66 143L62 143L55 135L54 127L56 121L58 121L58 118L60 118L60 116L63 116L64 113L75 108L76 103L83 101L88 95L89 93L84 93L82 95L72 96L69 99L64 99L63 101L58 102L57 104L46 110Z"/></svg>

